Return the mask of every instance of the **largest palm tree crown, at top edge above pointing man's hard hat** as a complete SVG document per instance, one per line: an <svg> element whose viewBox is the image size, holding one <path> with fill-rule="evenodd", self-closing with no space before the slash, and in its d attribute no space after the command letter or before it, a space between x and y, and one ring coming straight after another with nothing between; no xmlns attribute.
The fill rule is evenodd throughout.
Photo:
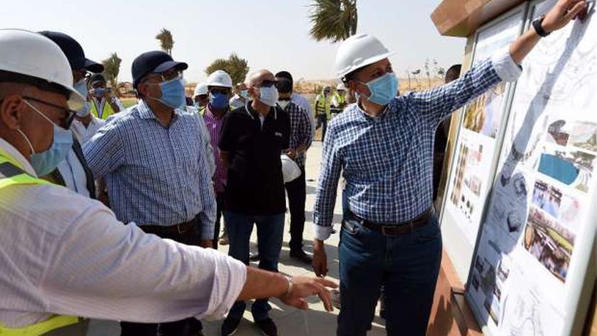
<svg viewBox="0 0 597 336"><path fill-rule="evenodd" d="M313 0L311 37L339 42L357 33L357 0Z"/></svg>

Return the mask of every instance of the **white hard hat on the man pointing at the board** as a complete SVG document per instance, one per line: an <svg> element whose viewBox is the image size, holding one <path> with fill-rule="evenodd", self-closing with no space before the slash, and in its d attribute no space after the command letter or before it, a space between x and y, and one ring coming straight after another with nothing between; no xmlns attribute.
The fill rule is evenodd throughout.
<svg viewBox="0 0 597 336"><path fill-rule="evenodd" d="M368 34L350 36L344 40L336 53L336 74L342 78L350 72L388 58L392 54L374 36Z"/></svg>

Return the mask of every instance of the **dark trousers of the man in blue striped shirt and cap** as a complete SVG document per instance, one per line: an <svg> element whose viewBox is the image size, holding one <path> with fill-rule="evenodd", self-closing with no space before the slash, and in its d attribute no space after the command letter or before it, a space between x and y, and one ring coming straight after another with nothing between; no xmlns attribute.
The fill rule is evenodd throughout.
<svg viewBox="0 0 597 336"><path fill-rule="evenodd" d="M140 228L146 233L156 234L156 236L164 239L172 239L186 245L199 245L200 236L193 228L182 234L158 234L151 232L151 229L146 227L141 226ZM121 336L191 336L195 335L198 330L203 330L201 321L196 318L185 318L180 321L159 324L121 322L120 327Z"/></svg>

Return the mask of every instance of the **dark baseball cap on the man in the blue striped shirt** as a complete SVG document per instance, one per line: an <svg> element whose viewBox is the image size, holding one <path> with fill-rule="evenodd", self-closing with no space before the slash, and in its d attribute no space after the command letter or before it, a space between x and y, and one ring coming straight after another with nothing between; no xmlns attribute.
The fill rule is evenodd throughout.
<svg viewBox="0 0 597 336"><path fill-rule="evenodd" d="M136 89L141 78L150 73L160 73L172 68L186 70L188 65L184 62L176 62L170 55L163 51L154 50L142 53L133 61L131 72L133 75L133 87Z"/></svg>

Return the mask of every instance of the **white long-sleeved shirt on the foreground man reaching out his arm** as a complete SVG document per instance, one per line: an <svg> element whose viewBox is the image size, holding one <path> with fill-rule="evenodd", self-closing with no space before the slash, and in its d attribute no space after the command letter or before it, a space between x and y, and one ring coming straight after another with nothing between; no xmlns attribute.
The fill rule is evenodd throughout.
<svg viewBox="0 0 597 336"><path fill-rule="evenodd" d="M9 154L31 165L9 143ZM58 185L0 190L0 325L22 327L53 313L158 323L222 318L247 269L213 249L124 225L102 203Z"/></svg>

